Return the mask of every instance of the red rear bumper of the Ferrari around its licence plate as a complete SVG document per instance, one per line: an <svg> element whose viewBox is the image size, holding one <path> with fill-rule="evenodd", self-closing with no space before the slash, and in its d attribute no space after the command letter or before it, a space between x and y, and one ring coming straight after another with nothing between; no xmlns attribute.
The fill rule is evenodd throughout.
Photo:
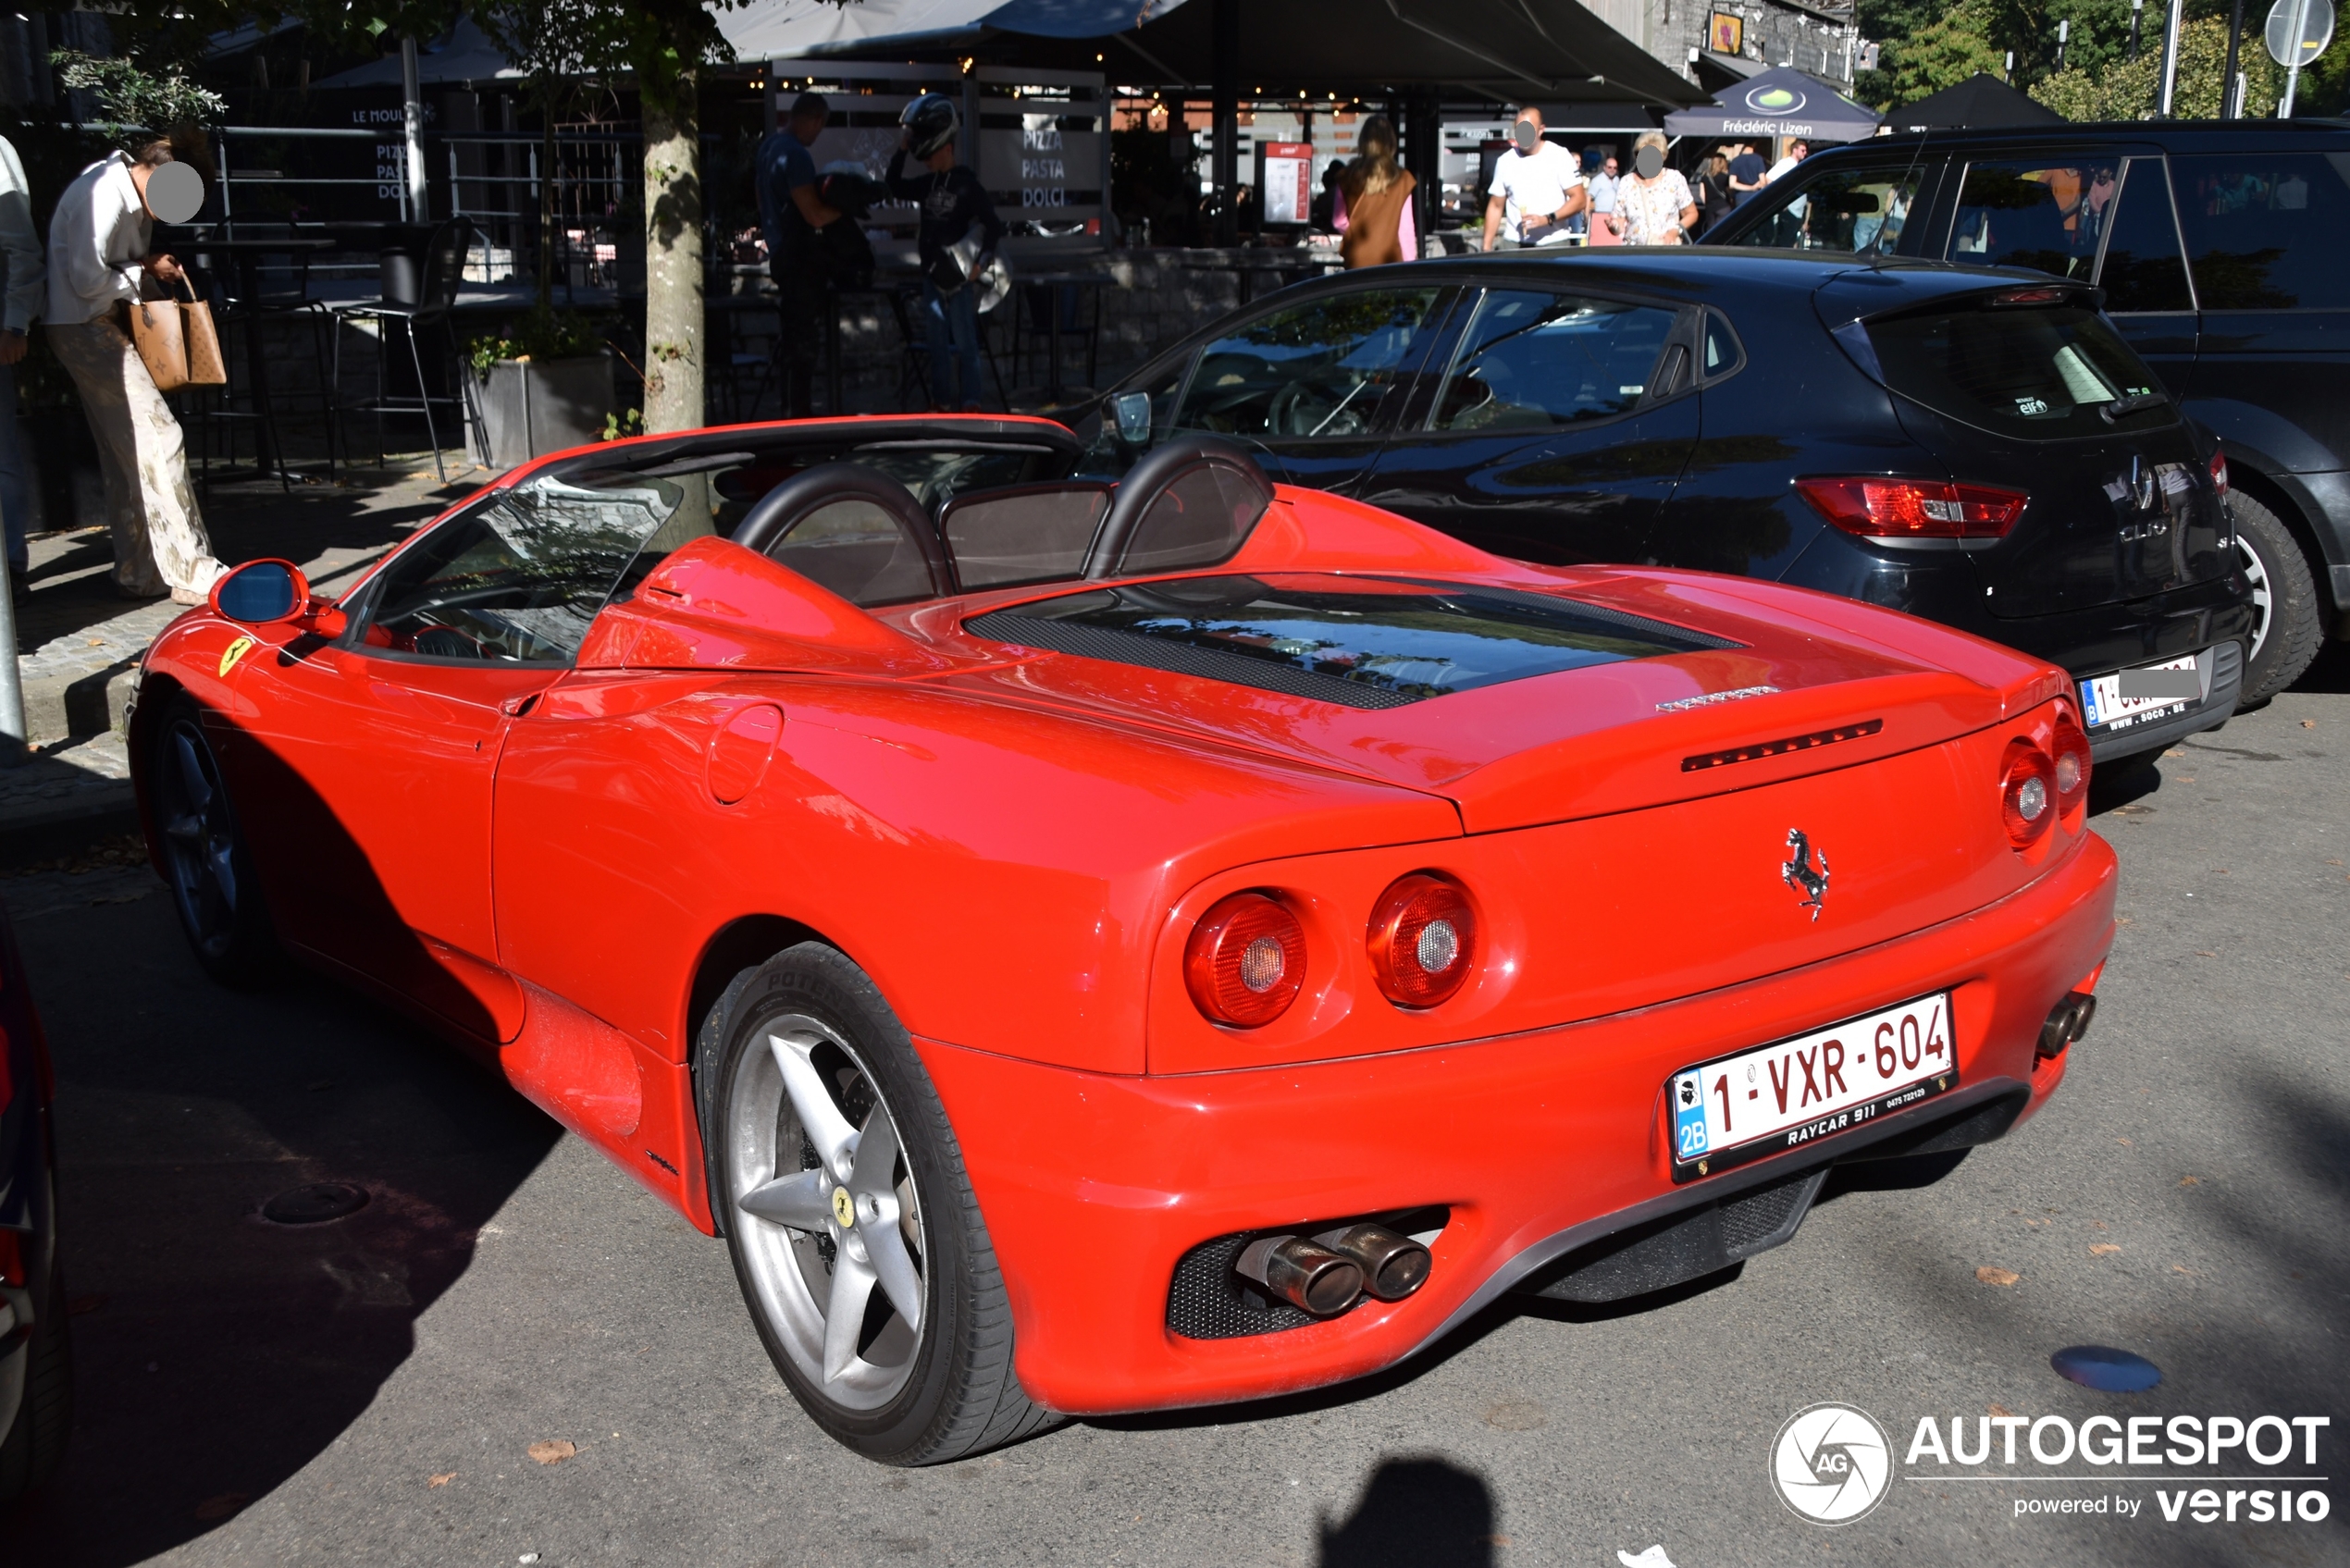
<svg viewBox="0 0 2350 1568"><path fill-rule="evenodd" d="M1065 1413L1257 1399L1342 1382L1443 1338L1600 1237L1784 1180L2000 1095L2030 1117L2063 1077L2035 1041L2113 940L2094 835L1974 914L1767 980L1560 1030L1391 1056L1109 1077L916 1041L1003 1267L1020 1382ZM1762 1044L1948 987L1960 1088L1866 1131L1671 1180L1664 1084ZM1177 1260L1213 1237L1450 1208L1403 1302L1229 1340L1168 1328Z"/></svg>

